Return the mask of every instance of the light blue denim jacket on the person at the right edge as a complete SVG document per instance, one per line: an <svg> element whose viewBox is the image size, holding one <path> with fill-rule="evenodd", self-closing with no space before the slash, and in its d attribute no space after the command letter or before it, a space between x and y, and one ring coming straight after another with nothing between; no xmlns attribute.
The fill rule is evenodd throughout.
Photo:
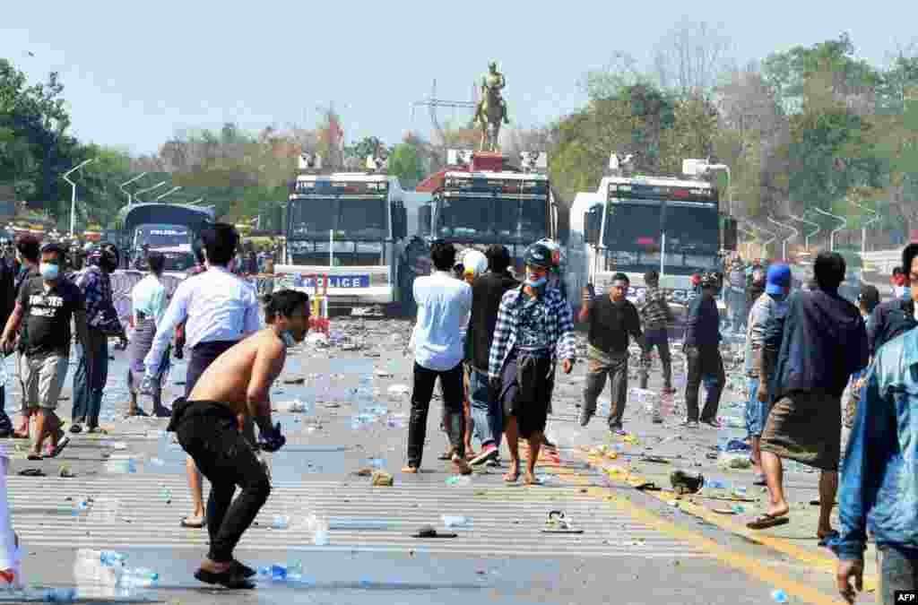
<svg viewBox="0 0 918 605"><path fill-rule="evenodd" d="M918 549L918 331L879 350L857 406L838 494L840 559L878 545Z"/></svg>

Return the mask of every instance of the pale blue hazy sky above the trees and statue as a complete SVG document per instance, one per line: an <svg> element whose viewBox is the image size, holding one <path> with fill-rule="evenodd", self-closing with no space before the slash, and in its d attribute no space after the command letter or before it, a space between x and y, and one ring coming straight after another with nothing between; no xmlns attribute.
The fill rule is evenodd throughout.
<svg viewBox="0 0 918 605"><path fill-rule="evenodd" d="M740 62L847 31L860 57L881 63L896 43L915 39L918 20L913 0L6 0L0 57L30 82L59 71L73 132L136 153L155 151L177 129L224 121L311 128L316 106L330 101L348 140L375 135L391 144L404 129L430 132L427 110L412 119L409 104L434 78L441 98L468 100L492 57L507 76L516 125L564 115L585 101L582 73L616 50L649 62L686 7L693 19L722 23Z"/></svg>

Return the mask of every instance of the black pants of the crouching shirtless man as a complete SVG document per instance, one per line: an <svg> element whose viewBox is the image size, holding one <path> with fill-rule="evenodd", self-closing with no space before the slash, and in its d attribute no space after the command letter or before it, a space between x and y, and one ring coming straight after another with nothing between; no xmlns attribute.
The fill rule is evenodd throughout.
<svg viewBox="0 0 918 605"><path fill-rule="evenodd" d="M271 482L252 445L240 434L229 406L189 401L175 407L180 408L173 410L178 443L210 481L207 556L220 563L232 561L232 551L242 533L255 521L271 493ZM234 500L237 486L242 491Z"/></svg>

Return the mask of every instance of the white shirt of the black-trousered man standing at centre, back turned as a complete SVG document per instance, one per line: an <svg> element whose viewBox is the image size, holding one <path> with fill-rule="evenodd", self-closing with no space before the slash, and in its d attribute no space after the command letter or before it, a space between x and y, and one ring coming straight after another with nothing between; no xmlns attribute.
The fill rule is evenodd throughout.
<svg viewBox="0 0 918 605"><path fill-rule="evenodd" d="M437 271L414 280L414 299L414 361L429 370L452 370L465 355L463 328L472 310L472 286Z"/></svg>

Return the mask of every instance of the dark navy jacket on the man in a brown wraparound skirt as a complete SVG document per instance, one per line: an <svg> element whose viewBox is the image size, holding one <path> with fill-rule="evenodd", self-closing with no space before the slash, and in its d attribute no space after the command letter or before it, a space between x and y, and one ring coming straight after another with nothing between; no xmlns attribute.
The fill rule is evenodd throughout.
<svg viewBox="0 0 918 605"><path fill-rule="evenodd" d="M775 370L776 399L792 391L840 398L848 378L868 361L867 330L854 305L827 290L790 296Z"/></svg>

